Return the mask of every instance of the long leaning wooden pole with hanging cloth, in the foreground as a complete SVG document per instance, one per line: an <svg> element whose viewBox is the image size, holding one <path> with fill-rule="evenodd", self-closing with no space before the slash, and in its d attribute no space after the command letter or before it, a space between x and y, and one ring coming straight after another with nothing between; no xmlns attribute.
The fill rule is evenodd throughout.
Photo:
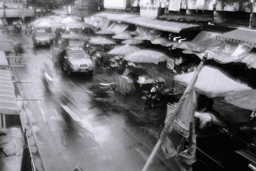
<svg viewBox="0 0 256 171"><path fill-rule="evenodd" d="M193 75L193 78L191 79L191 82L189 83L188 87L186 88L184 94L186 94L188 91L191 91L191 87L195 86L195 80L198 77L198 74L200 73L200 71L202 70L204 63L207 59L207 55L204 56L204 59L202 59L201 63L198 65L198 68L196 70L196 72ZM183 98L184 94L182 95L181 99ZM175 108L175 110L178 110L177 107ZM175 113L175 112L173 112ZM172 117L174 119L174 117ZM144 165L142 171L147 171L151 161L154 159L154 156L156 155L157 150L159 149L160 145L163 142L163 138L166 136L166 132L169 130L170 126L172 125L172 121L169 121L167 124L165 124L163 131L161 132L161 135L157 141L157 144L155 145L153 151L151 152L150 156L148 157L148 160L146 162L146 164Z"/></svg>

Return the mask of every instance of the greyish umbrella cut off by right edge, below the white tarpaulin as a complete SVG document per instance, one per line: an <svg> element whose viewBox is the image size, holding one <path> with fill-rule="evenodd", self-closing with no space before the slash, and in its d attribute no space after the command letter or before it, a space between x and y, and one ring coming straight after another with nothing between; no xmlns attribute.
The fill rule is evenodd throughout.
<svg viewBox="0 0 256 171"><path fill-rule="evenodd" d="M256 90L234 91L225 96L228 103L246 110L256 110Z"/></svg>

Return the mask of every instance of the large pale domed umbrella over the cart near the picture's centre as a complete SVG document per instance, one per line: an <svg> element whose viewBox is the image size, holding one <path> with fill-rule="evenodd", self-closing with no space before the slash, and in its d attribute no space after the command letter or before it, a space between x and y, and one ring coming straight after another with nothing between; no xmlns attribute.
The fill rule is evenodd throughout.
<svg viewBox="0 0 256 171"><path fill-rule="evenodd" d="M156 52L154 50L140 50L134 52L129 56L126 56L124 59L126 61L134 63L155 63L166 61L169 57L161 52Z"/></svg>

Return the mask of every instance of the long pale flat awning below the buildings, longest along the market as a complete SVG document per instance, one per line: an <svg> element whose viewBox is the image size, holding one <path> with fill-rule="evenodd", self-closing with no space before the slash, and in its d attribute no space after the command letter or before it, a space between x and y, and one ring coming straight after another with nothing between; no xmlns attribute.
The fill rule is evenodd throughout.
<svg viewBox="0 0 256 171"><path fill-rule="evenodd" d="M147 19L143 17L130 17L123 19L122 22L129 24L135 24L138 26L148 27L151 29L157 29L160 31L167 31L172 33L180 33L180 31L202 29L202 26L198 24L187 24L182 22L169 22L164 20Z"/></svg>

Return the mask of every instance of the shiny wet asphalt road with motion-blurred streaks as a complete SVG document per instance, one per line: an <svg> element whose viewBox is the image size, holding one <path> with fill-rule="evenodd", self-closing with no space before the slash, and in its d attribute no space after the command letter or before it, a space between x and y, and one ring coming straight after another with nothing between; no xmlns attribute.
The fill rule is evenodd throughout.
<svg viewBox="0 0 256 171"><path fill-rule="evenodd" d="M52 66L51 48L33 48L31 36L24 33L9 35L25 48L21 63L10 61L25 65L13 68L13 77L32 82L15 87L18 97L31 98L19 101L19 105L32 142L36 169L74 170L78 166L83 170L141 170L156 139L129 123L120 110L114 107L108 111L90 96L90 86L102 82L111 73L96 68L92 78L87 75L70 78ZM54 72L54 93L42 84L40 70L44 63ZM76 104L76 113L69 120L65 119L58 101L63 92ZM169 168L155 160L149 170Z"/></svg>

